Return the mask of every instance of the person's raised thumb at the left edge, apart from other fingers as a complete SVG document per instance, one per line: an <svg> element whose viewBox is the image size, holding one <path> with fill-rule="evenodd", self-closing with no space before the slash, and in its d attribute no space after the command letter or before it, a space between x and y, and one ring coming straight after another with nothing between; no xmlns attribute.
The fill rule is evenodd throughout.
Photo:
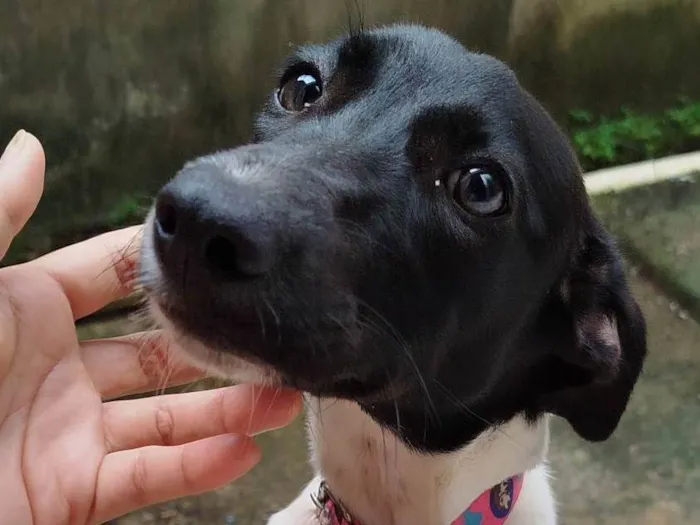
<svg viewBox="0 0 700 525"><path fill-rule="evenodd" d="M37 138L17 132L0 159L0 259L39 204L45 167Z"/></svg>

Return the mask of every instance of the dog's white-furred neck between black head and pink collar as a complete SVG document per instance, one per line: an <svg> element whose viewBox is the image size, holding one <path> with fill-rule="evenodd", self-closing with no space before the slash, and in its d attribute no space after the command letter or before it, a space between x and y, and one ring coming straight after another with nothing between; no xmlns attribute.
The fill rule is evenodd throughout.
<svg viewBox="0 0 700 525"><path fill-rule="evenodd" d="M310 398L308 412L314 467L362 525L448 525L482 492L541 463L549 440L546 418L516 418L433 455L409 449L355 403Z"/></svg>

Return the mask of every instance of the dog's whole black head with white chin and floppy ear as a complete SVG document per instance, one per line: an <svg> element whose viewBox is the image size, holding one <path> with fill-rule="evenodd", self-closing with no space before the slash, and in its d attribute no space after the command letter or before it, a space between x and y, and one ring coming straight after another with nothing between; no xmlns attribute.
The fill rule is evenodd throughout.
<svg viewBox="0 0 700 525"><path fill-rule="evenodd" d="M419 27L289 58L255 144L158 195L142 280L200 362L430 451L517 413L604 439L646 352L566 138L505 65Z"/></svg>

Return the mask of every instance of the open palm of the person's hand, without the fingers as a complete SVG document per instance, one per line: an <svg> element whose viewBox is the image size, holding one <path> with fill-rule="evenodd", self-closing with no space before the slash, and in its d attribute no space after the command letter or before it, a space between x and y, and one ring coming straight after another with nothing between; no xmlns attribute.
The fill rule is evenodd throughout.
<svg viewBox="0 0 700 525"><path fill-rule="evenodd" d="M3 415L12 414L15 422L0 428L0 439L11 444L10 454L15 447L22 450L14 467L24 485L18 496L26 502L24 515L10 522L88 523L107 448L102 399L80 358L70 304L57 283L41 272L10 271L3 277L15 292L15 314L13 323L3 317L0 330L22 334L12 377L0 383ZM21 380L19 390L14 378ZM5 452L3 448L0 455Z"/></svg>

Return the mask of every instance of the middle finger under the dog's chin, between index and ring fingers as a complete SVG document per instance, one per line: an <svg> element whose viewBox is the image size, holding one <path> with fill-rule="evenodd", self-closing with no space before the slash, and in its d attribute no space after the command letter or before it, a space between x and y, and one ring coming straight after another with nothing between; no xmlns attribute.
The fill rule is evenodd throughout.
<svg viewBox="0 0 700 525"><path fill-rule="evenodd" d="M177 359L161 330L82 341L83 363L104 399L191 383L205 373Z"/></svg>

